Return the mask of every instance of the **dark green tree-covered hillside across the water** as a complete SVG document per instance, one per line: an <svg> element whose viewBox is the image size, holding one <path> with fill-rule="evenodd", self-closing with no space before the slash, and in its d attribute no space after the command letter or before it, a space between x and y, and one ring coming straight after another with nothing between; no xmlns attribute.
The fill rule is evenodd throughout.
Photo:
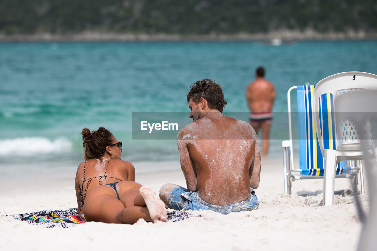
<svg viewBox="0 0 377 251"><path fill-rule="evenodd" d="M375 0L1 0L0 33L377 31Z"/></svg>

